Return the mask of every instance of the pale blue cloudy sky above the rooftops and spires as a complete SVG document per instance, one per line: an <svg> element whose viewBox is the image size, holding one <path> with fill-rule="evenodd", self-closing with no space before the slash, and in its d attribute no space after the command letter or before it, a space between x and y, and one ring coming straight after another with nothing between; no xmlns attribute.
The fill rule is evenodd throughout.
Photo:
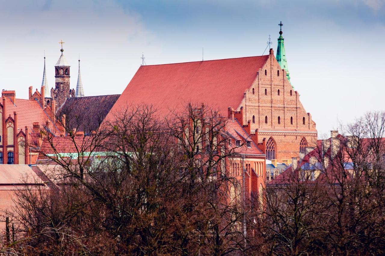
<svg viewBox="0 0 385 256"><path fill-rule="evenodd" d="M319 137L384 110L385 0L0 0L0 83L28 98L64 55L86 96L121 94L142 64L258 56L278 23Z"/></svg>

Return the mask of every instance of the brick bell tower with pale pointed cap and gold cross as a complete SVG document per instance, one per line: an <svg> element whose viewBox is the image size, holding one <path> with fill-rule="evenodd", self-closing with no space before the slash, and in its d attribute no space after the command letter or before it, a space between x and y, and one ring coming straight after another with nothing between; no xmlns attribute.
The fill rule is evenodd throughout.
<svg viewBox="0 0 385 256"><path fill-rule="evenodd" d="M52 98L55 99L57 108L59 108L64 101L71 95L70 90L70 65L63 55L63 40L59 42L62 45L59 60L55 65L55 90L53 91Z"/></svg>

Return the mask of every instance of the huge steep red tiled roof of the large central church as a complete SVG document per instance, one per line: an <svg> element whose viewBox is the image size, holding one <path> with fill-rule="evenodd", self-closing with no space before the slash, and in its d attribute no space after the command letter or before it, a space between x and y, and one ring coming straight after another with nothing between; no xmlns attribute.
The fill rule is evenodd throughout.
<svg viewBox="0 0 385 256"><path fill-rule="evenodd" d="M269 55L141 66L111 109L107 120L127 106L152 105L160 115L187 103L227 113L237 108Z"/></svg>

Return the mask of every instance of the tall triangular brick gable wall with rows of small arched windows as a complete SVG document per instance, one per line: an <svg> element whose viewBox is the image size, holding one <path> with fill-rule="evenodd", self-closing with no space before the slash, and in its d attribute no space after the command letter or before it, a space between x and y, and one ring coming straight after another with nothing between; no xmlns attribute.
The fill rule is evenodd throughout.
<svg viewBox="0 0 385 256"><path fill-rule="evenodd" d="M277 71L279 71L279 76ZM267 95L265 95L265 89ZM278 90L280 90L279 95ZM315 145L317 139L315 122L311 119L310 113L307 113L303 108L299 93L291 87L286 78L286 72L280 68L273 51L270 51L266 64L259 70L253 85L246 91L245 98L239 108L241 106L243 106L244 115L243 125L246 125L250 120L251 132L259 129L259 143L263 141L263 138L266 138L265 141L270 136L274 138L276 159L279 162L298 156L300 141L303 137L306 138L309 146ZM255 123L252 122L253 116ZM265 123L265 116L268 119L267 124ZM278 116L280 123L278 123ZM293 124L290 121L291 117ZM303 117L305 117L305 125L303 124ZM268 131L282 132L269 133Z"/></svg>

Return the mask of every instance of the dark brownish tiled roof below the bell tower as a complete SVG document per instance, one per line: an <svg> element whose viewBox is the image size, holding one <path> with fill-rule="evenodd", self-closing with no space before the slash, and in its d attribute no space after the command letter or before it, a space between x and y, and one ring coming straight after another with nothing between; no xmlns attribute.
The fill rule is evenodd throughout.
<svg viewBox="0 0 385 256"><path fill-rule="evenodd" d="M115 94L68 98L56 115L60 118L65 114L71 128L88 133L99 127L119 96Z"/></svg>

